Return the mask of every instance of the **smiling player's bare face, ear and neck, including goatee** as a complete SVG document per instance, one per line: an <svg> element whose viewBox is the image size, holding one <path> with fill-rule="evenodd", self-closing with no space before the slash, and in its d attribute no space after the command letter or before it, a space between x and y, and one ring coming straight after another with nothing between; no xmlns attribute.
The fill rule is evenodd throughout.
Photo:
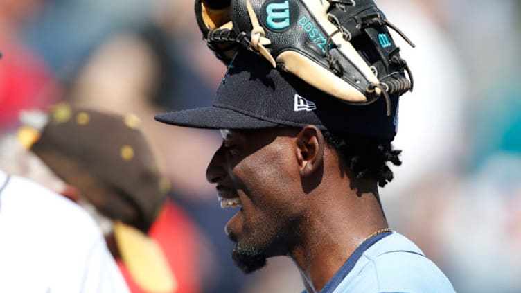
<svg viewBox="0 0 521 293"><path fill-rule="evenodd" d="M319 292L371 233L387 227L374 179L354 179L313 125L224 130L206 177L240 210L225 228L245 272L290 256Z"/></svg>

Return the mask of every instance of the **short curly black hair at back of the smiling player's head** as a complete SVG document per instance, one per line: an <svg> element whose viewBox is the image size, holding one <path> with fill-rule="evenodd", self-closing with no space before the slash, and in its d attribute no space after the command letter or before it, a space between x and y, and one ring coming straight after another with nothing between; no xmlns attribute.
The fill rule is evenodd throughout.
<svg viewBox="0 0 521 293"><path fill-rule="evenodd" d="M353 134L339 134L324 131L324 139L337 151L347 168L357 179L372 178L383 187L393 178L393 171L387 166L391 162L400 166L401 150L393 150L389 139L378 139Z"/></svg>

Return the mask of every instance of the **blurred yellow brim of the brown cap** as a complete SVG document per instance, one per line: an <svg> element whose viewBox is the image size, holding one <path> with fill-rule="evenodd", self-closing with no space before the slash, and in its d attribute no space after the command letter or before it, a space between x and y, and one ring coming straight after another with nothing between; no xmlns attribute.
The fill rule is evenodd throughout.
<svg viewBox="0 0 521 293"><path fill-rule="evenodd" d="M177 280L161 247L143 232L114 222L114 236L132 279L147 292L175 292Z"/></svg>

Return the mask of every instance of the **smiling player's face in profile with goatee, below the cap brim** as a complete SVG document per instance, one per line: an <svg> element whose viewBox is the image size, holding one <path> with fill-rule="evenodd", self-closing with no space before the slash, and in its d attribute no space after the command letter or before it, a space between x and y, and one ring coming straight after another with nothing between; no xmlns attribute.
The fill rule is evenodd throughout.
<svg viewBox="0 0 521 293"><path fill-rule="evenodd" d="M221 206L240 206L225 231L237 243L232 258L245 272L270 256L288 253L302 215L296 161L298 130L222 130L223 142L206 177L217 184Z"/></svg>

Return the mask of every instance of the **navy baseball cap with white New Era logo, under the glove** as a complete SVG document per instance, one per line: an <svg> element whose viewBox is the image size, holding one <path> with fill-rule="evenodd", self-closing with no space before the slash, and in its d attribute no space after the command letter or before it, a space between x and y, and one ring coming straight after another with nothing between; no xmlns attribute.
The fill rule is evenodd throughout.
<svg viewBox="0 0 521 293"><path fill-rule="evenodd" d="M371 105L349 105L315 89L262 57L240 50L229 65L213 105L160 114L157 121L184 127L248 130L317 125L321 130L392 139L398 96Z"/></svg>

